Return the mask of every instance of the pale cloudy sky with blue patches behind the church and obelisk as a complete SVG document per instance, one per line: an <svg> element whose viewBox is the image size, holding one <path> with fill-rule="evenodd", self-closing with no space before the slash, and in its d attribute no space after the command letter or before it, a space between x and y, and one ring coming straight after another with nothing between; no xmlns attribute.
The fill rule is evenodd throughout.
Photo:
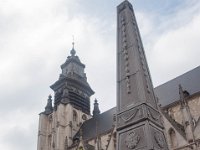
<svg viewBox="0 0 200 150"><path fill-rule="evenodd" d="M38 114L75 37L101 112L116 105L122 0L0 0L0 149L36 150ZM199 0L130 0L154 86L200 64Z"/></svg>

